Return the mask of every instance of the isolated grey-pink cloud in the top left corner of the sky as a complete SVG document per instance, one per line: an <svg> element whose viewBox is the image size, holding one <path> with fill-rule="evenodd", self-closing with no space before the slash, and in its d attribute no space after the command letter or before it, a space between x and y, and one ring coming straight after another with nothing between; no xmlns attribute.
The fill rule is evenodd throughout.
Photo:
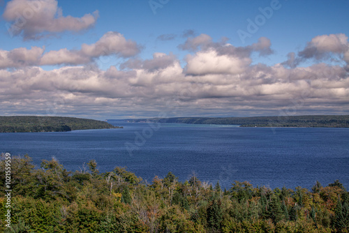
<svg viewBox="0 0 349 233"><path fill-rule="evenodd" d="M57 0L11 0L3 18L8 21L6 27L11 36L34 40L62 31L89 29L96 23L98 10L82 17L64 17Z"/></svg>

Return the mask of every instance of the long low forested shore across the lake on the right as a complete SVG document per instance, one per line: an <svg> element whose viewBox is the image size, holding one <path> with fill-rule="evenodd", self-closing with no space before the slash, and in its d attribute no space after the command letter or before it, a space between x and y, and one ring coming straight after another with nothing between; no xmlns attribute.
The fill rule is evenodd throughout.
<svg viewBox="0 0 349 233"><path fill-rule="evenodd" d="M313 115L292 117L176 117L135 119L133 122L228 124L242 127L332 127L348 128L349 115Z"/></svg>

